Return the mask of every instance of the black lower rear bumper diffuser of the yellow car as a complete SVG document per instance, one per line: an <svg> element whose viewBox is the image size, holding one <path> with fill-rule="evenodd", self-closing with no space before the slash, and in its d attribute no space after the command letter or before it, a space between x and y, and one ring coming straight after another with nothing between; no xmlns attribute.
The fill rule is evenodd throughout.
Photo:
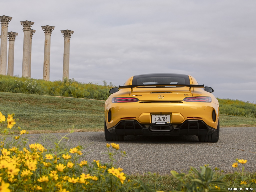
<svg viewBox="0 0 256 192"><path fill-rule="evenodd" d="M136 120L122 120L108 129L117 135L207 135L214 133L215 128L202 120L186 120L180 124L142 124Z"/></svg>

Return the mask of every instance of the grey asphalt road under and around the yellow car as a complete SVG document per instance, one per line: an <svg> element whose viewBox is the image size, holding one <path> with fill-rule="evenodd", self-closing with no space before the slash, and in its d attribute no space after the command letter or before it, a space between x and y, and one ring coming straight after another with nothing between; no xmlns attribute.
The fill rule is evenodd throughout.
<svg viewBox="0 0 256 192"><path fill-rule="evenodd" d="M49 148L53 146L55 138L58 140L60 134L50 134L46 140L42 134L28 134L28 143L40 142ZM65 147L84 147L83 160L109 161L108 155L104 154L107 152L104 132L75 132L68 138L62 142ZM256 127L220 128L217 143L200 143L196 136L126 136L124 142L116 143L127 154L118 163L126 174L169 174L171 170L187 172L189 166L199 168L205 164L225 172L234 172L237 169L232 164L236 158L247 159L248 162L244 164L246 171L256 171ZM239 166L242 167L241 164Z"/></svg>

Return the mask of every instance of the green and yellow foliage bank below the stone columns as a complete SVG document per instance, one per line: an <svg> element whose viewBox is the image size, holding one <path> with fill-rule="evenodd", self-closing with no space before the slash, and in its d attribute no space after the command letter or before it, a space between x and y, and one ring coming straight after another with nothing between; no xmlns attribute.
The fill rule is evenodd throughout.
<svg viewBox="0 0 256 192"><path fill-rule="evenodd" d="M106 100L110 95L109 89L114 86L112 82L108 84L106 81L102 81L102 83L103 86L93 84L92 82L80 83L74 79L52 82L41 79L0 75L1 92Z"/></svg>

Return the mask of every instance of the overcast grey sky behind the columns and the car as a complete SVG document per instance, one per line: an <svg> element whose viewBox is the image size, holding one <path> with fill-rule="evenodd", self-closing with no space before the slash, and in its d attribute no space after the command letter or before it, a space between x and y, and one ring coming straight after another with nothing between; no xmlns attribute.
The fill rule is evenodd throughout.
<svg viewBox="0 0 256 192"><path fill-rule="evenodd" d="M50 81L62 80L64 38L70 39L69 78L123 85L144 73L182 73L214 88L218 98L256 102L256 1L74 0L2 1L12 17L14 75L22 76L23 28L35 22L31 78L42 79L44 31L51 35ZM8 57L8 56L7 56Z"/></svg>

